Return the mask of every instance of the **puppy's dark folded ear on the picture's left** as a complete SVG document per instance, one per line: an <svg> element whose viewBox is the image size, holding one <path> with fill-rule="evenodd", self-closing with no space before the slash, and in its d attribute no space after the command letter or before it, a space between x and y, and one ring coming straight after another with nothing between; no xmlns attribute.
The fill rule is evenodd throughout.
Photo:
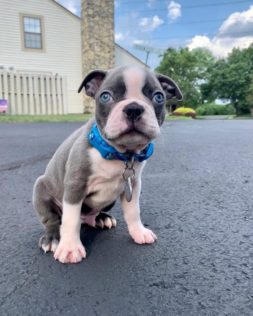
<svg viewBox="0 0 253 316"><path fill-rule="evenodd" d="M91 71L81 83L78 93L80 93L85 87L86 94L94 99L97 89L101 86L105 76L107 75L106 70L93 70Z"/></svg>

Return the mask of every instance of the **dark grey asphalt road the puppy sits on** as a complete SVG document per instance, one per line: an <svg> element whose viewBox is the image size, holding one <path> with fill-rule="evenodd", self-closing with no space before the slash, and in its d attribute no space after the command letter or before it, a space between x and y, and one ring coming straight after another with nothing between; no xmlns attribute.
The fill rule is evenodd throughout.
<svg viewBox="0 0 253 316"><path fill-rule="evenodd" d="M142 177L158 240L83 227L87 258L38 248L36 178L80 123L0 124L0 315L253 315L253 120L172 121Z"/></svg>

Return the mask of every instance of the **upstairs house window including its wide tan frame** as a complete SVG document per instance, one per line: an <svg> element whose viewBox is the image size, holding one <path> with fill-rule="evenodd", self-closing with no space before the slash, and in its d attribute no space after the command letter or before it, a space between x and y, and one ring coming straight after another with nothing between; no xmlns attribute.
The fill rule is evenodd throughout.
<svg viewBox="0 0 253 316"><path fill-rule="evenodd" d="M45 52L43 16L28 13L19 15L22 51Z"/></svg>

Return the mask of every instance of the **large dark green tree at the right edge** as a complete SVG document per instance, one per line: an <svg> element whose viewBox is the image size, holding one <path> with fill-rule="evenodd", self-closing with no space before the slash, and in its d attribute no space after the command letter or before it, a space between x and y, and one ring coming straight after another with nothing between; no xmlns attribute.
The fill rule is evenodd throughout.
<svg viewBox="0 0 253 316"><path fill-rule="evenodd" d="M213 95L221 100L229 100L236 114L246 104L253 74L253 47L234 48L227 58L218 59L209 69L208 82L201 88L204 98Z"/></svg>

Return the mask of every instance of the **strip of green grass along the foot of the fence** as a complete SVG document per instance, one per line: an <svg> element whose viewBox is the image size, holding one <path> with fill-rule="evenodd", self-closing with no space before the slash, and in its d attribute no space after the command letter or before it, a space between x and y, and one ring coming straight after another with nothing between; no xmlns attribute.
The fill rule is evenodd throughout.
<svg viewBox="0 0 253 316"><path fill-rule="evenodd" d="M0 115L0 123L87 122L94 114Z"/></svg>

